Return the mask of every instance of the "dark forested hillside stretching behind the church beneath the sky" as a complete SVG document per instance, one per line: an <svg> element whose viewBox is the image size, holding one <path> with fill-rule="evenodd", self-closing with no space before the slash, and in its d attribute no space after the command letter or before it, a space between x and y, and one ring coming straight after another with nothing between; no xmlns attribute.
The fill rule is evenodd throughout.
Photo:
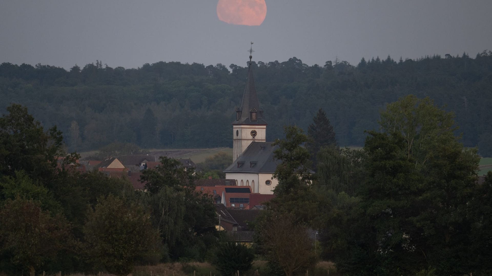
<svg viewBox="0 0 492 276"><path fill-rule="evenodd" d="M339 145L363 145L364 130L377 129L379 110L414 94L446 105L445 110L456 114L464 145L479 145L483 155L491 155L491 51L475 58L363 58L357 66L338 60L307 66L296 57L253 66L269 122L267 140L282 137L287 124L306 129L323 108ZM114 141L143 148L230 147L231 122L247 68L229 68L160 61L125 69L96 61L66 71L2 63L0 110L4 113L10 103L27 106L45 127L62 130L70 150L96 149Z"/></svg>

